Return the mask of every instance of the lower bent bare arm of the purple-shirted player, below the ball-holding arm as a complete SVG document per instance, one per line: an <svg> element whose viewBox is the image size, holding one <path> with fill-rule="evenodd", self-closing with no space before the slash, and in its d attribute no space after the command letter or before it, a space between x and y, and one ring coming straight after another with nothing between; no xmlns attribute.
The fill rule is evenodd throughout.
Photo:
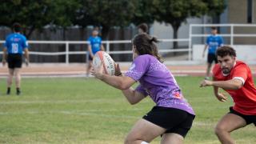
<svg viewBox="0 0 256 144"><path fill-rule="evenodd" d="M122 94L126 96L126 99L128 102L130 102L131 105L134 105L145 98L145 95L135 91L132 87L127 90L122 90Z"/></svg>

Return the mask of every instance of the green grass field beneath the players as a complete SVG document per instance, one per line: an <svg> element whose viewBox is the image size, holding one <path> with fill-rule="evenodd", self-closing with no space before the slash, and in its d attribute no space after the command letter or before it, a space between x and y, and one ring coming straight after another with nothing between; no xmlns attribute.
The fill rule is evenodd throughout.
<svg viewBox="0 0 256 144"><path fill-rule="evenodd" d="M219 143L214 125L232 100L218 102L212 88L198 87L201 80L177 77L197 114L185 143ZM130 106L120 90L94 78L23 78L19 97L14 90L6 96L4 80L0 84L0 143L123 143L134 122L154 106L150 98ZM232 136L237 143L256 142L253 125Z"/></svg>

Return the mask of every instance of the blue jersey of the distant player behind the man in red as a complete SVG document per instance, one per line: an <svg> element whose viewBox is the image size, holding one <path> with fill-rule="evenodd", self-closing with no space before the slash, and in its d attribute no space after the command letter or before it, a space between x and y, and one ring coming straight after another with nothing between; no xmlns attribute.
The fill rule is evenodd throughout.
<svg viewBox="0 0 256 144"><path fill-rule="evenodd" d="M210 35L206 40L208 45L208 54L215 54L219 46L223 45L223 39L219 35Z"/></svg>

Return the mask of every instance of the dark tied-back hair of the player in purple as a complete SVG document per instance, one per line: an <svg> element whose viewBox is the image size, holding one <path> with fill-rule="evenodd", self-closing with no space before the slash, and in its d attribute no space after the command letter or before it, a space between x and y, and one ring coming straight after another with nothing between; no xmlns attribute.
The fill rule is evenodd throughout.
<svg viewBox="0 0 256 144"><path fill-rule="evenodd" d="M155 42L158 42L158 39L151 37L149 34L137 34L132 40L138 55L150 54L155 58L158 58L159 62L162 62L161 55L158 53L158 47L155 45Z"/></svg>

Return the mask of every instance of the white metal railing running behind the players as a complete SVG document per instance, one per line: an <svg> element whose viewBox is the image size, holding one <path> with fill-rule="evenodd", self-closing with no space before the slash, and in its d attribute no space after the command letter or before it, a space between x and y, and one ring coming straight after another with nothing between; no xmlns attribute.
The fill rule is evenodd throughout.
<svg viewBox="0 0 256 144"><path fill-rule="evenodd" d="M230 34L220 34L222 37L230 37L230 45L234 45L234 37L245 37L251 38L256 37L256 34L234 34L234 27L256 27L256 25L252 24L190 24L189 30L189 38L180 38L180 39L160 39L160 42L188 42L187 48L182 49L168 49L163 50L161 47L159 49L160 53L169 53L169 52L187 52L188 60L192 61L192 45L193 38L205 38L209 34L193 34L193 30L195 27L210 27L210 26L218 26L218 27L227 27L230 26ZM0 41L3 43L4 41ZM70 62L70 54L87 54L87 60L89 55L86 51L70 51L70 45L72 44L88 44L86 41L28 41L29 44L62 44L65 45L66 50L62 52L38 52L38 51L30 51L30 54L35 55L66 55L66 63ZM106 52L109 54L131 54L131 50L110 50L110 44L127 44L131 43L130 40L122 40L122 41L102 41L106 46ZM2 52L0 52L2 54Z"/></svg>

